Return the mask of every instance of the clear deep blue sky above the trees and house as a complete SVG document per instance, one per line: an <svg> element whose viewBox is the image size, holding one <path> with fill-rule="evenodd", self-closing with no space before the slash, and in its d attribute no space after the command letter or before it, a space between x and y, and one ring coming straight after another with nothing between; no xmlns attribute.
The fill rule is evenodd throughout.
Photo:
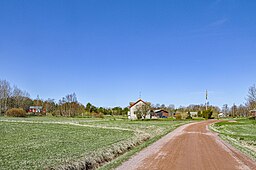
<svg viewBox="0 0 256 170"><path fill-rule="evenodd" d="M255 73L254 0L0 1L0 79L33 98L240 104Z"/></svg>

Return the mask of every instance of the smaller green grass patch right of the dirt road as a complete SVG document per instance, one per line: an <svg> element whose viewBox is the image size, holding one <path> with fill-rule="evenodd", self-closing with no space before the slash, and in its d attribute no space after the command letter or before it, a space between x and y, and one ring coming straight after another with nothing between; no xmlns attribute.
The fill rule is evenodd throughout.
<svg viewBox="0 0 256 170"><path fill-rule="evenodd" d="M223 140L256 160L256 121L248 119L227 120L215 123L211 128Z"/></svg>

